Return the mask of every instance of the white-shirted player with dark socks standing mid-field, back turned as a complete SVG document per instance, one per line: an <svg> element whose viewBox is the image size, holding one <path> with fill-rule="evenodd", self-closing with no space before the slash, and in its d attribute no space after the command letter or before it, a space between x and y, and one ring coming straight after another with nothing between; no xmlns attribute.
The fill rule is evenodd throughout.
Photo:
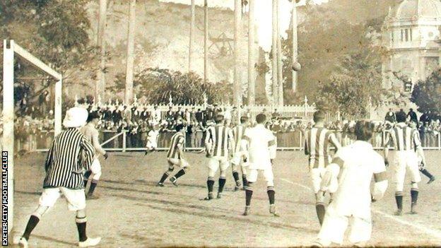
<svg viewBox="0 0 441 248"><path fill-rule="evenodd" d="M242 149L245 150L245 156L249 161L249 170L247 173L248 184L245 187L245 212L243 215L249 215L251 211L251 198L253 194L253 184L257 181L259 172L263 172L266 180L266 192L269 198L269 213L278 216L276 213L274 191L273 159L276 158L276 138L273 132L266 129L265 114L257 114L257 125L245 131L242 137Z"/></svg>

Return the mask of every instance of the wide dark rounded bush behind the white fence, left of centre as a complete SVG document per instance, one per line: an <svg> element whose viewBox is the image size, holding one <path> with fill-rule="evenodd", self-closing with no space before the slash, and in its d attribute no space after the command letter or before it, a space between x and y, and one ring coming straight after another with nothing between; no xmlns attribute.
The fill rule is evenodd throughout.
<svg viewBox="0 0 441 248"><path fill-rule="evenodd" d="M119 74L114 87L115 93L124 90L125 75ZM167 104L170 95L175 104L202 104L204 97L208 103L231 102L232 85L226 81L204 83L196 73L182 73L168 69L148 68L134 76L136 95L145 96L153 104Z"/></svg>

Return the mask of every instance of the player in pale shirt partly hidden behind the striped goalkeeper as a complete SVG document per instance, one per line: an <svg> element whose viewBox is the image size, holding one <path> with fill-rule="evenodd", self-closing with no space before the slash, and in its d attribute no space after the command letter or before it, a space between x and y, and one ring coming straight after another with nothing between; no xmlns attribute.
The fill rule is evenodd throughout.
<svg viewBox="0 0 441 248"><path fill-rule="evenodd" d="M95 187L98 184L98 181L101 177L101 164L100 160L98 160L98 155L102 155L105 159L109 157L109 154L102 149L100 145L100 141L98 141L98 130L96 129L96 125L100 122L100 115L98 112L91 112L87 119L86 126L81 128L81 133L86 136L88 141L90 141L93 147L96 150L95 158L93 158L93 163L90 166L90 170L84 173L84 188L86 189L88 180L91 178L92 182L90 182L90 187L88 194L86 194L87 199L98 199L99 197L93 194L95 191Z"/></svg>

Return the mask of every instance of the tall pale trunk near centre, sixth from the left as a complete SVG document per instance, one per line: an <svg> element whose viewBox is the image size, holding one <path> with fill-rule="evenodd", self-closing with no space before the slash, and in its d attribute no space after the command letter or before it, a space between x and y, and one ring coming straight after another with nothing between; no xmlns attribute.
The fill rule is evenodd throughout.
<svg viewBox="0 0 441 248"><path fill-rule="evenodd" d="M256 103L256 78L254 73L254 0L249 0L248 16L248 105Z"/></svg>

